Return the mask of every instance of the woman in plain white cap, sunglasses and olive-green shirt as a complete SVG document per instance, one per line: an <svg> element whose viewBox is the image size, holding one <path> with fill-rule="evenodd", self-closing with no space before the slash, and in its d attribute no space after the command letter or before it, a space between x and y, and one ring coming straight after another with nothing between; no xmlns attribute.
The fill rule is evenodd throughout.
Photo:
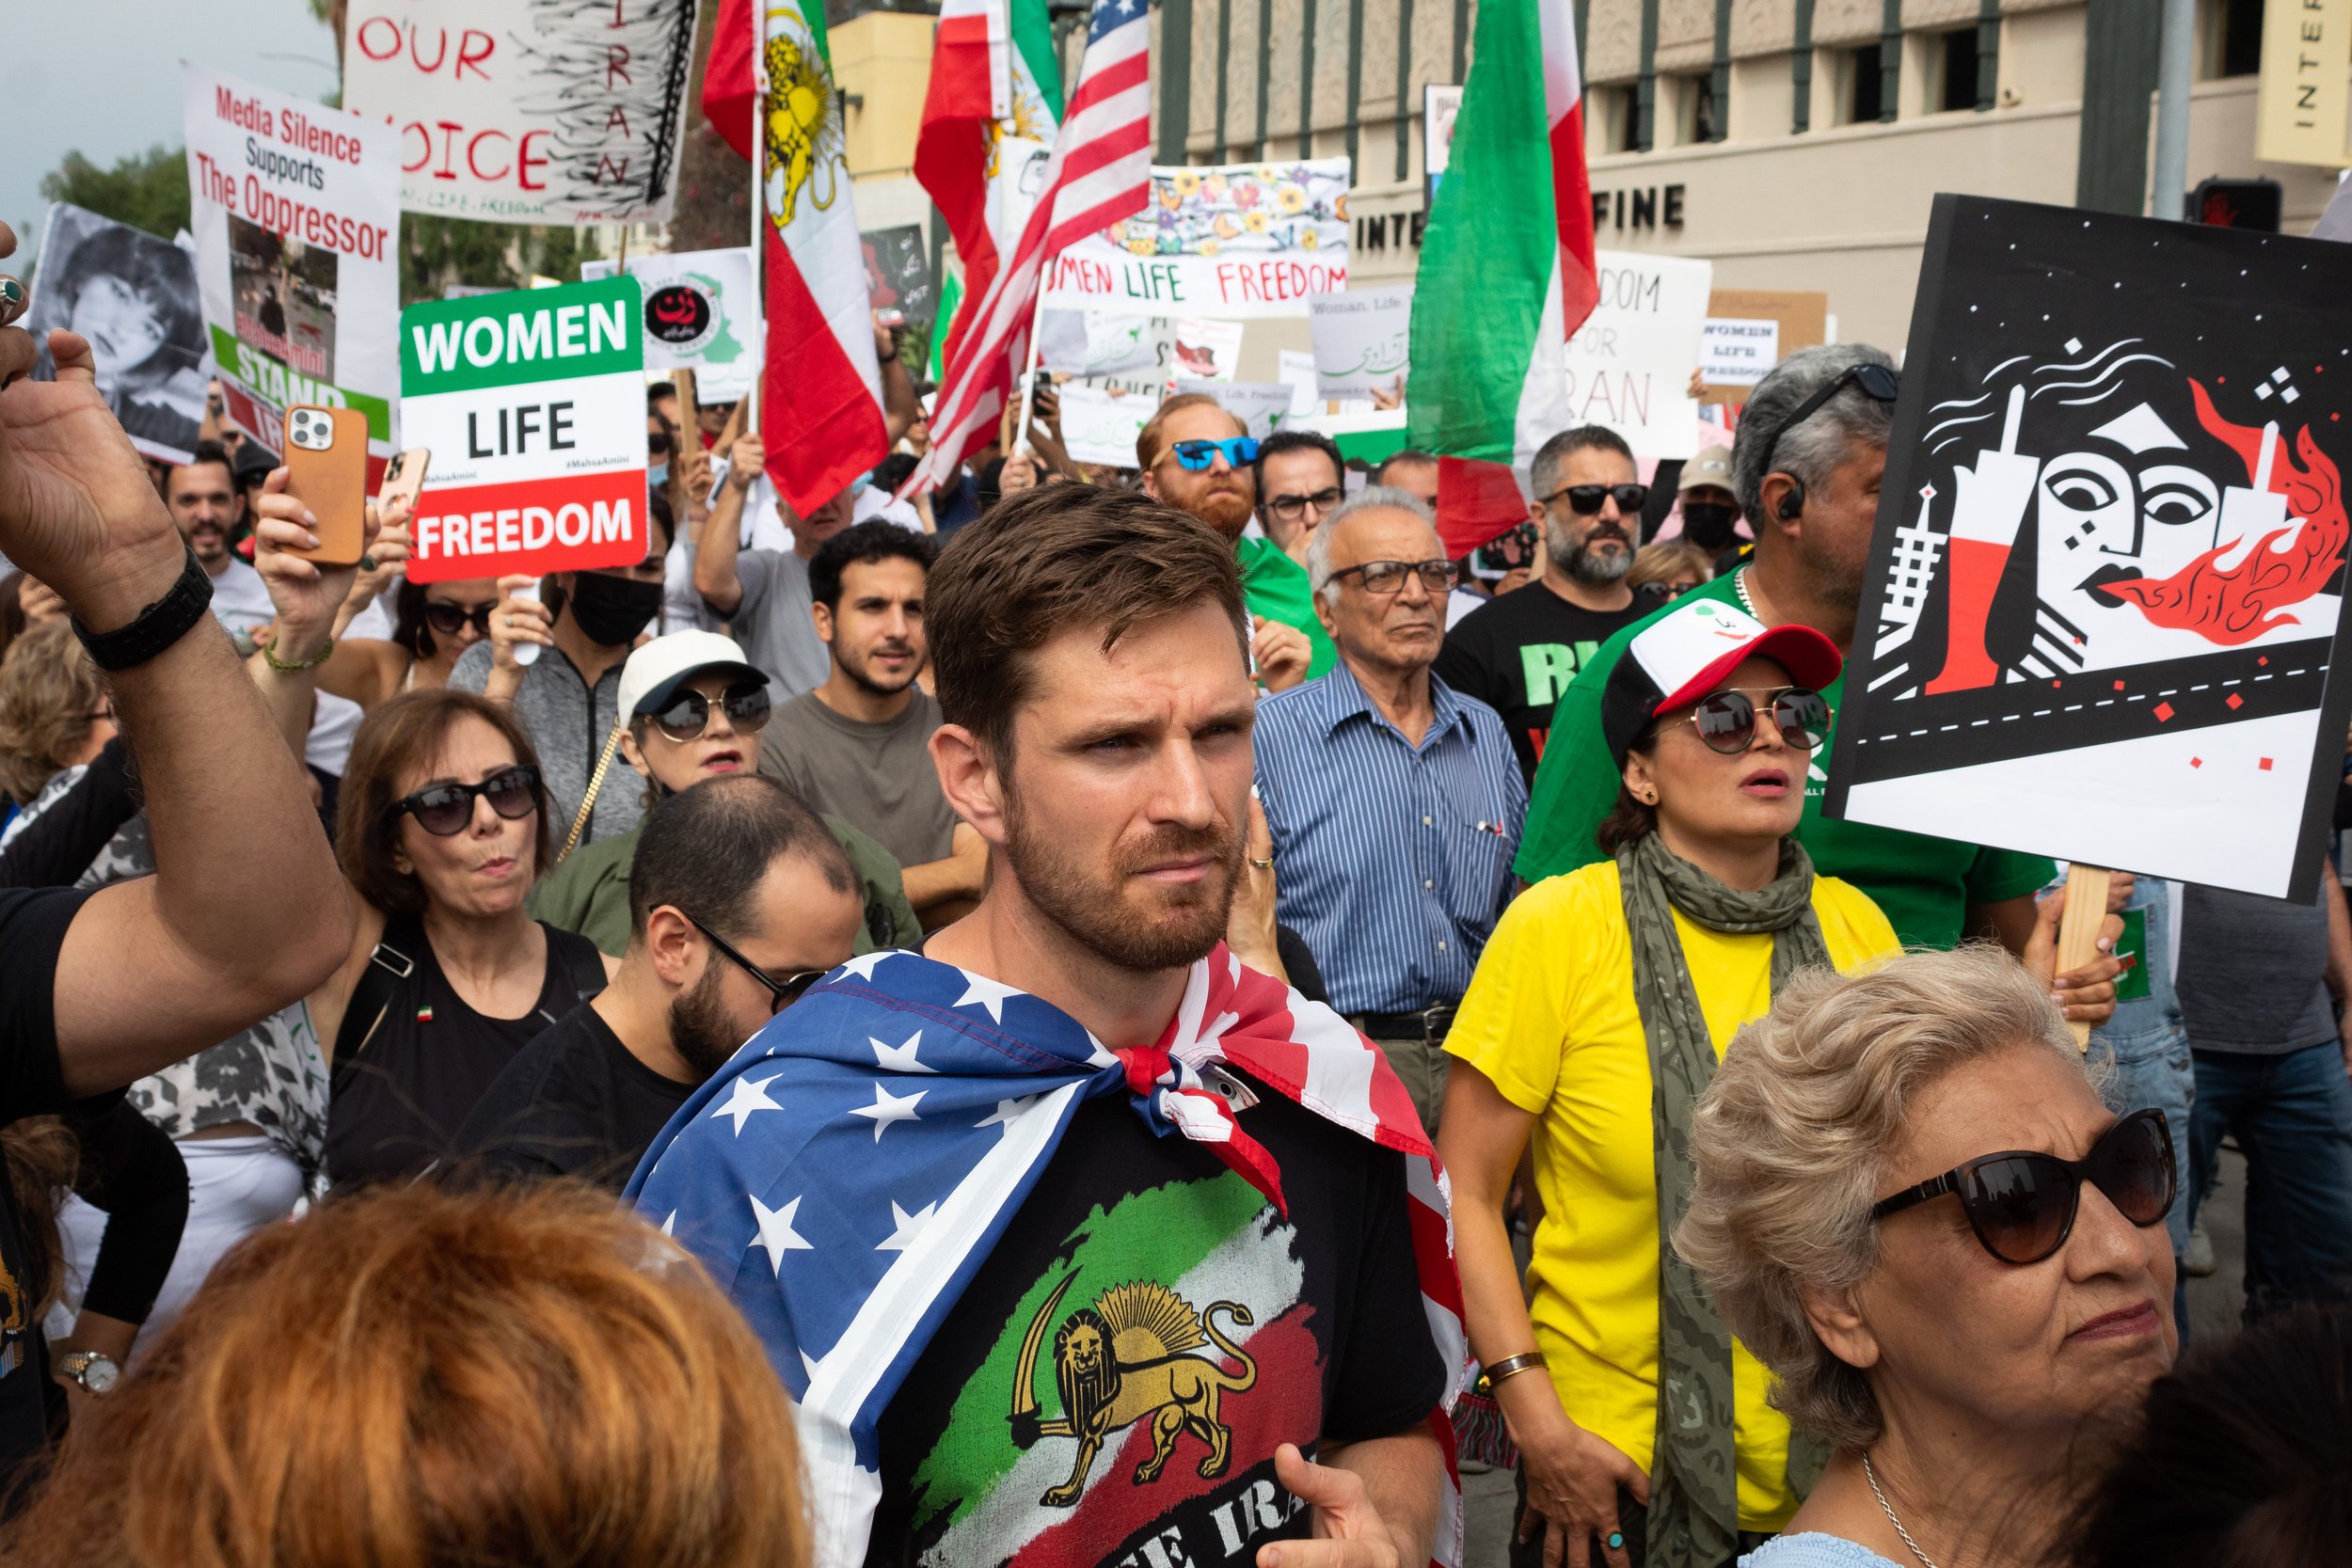
<svg viewBox="0 0 2352 1568"><path fill-rule="evenodd" d="M767 682L729 637L717 632L654 637L628 656L621 670L621 703L630 722L614 766L628 764L644 780L642 795L630 783L630 795L642 799L640 809L708 780L762 771ZM906 900L891 853L837 816L818 813L818 820L849 856L858 879L866 922L858 926L856 950L913 943L922 926ZM630 940L628 877L640 827L567 856L532 889L532 919L579 931L602 952L623 957Z"/></svg>

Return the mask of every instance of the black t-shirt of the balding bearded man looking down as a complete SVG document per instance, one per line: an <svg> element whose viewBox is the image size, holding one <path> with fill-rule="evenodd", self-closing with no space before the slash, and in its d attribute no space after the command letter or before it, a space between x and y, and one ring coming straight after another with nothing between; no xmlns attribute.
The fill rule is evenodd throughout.
<svg viewBox="0 0 2352 1568"><path fill-rule="evenodd" d="M581 1001L492 1081L456 1147L489 1175L581 1175L619 1192L691 1093L630 1056Z"/></svg>

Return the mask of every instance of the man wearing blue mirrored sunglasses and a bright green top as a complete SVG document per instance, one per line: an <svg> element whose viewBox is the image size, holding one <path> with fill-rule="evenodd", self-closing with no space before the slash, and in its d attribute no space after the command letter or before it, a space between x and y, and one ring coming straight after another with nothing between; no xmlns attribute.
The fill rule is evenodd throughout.
<svg viewBox="0 0 2352 1568"><path fill-rule="evenodd" d="M1143 494L1232 541L1258 684L1282 691L1322 675L1338 654L1315 618L1305 567L1275 541L1242 534L1258 503L1256 458L1256 437L1209 393L1176 393L1136 435Z"/></svg>

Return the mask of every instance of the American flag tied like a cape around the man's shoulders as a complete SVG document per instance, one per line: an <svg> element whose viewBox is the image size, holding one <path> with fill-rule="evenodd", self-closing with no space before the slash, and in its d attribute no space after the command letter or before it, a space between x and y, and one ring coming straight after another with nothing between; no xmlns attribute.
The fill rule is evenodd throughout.
<svg viewBox="0 0 2352 1568"><path fill-rule="evenodd" d="M877 1425L1054 1159L1080 1100L1129 1095L1282 1208L1279 1173L1221 1088L1258 1084L1406 1157L1421 1302L1449 1368L1432 1561L1461 1561L1451 1408L1465 1356L1451 1199L1388 1060L1331 1009L1242 966L1192 966L1155 1046L1112 1051L1037 997L915 952L814 985L670 1117L628 1197L694 1253L800 1403L821 1568L866 1561Z"/></svg>

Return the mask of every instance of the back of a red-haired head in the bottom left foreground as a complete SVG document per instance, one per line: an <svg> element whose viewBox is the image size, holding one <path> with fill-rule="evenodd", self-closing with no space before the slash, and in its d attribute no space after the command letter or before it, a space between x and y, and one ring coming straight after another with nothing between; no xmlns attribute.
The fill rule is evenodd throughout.
<svg viewBox="0 0 2352 1568"><path fill-rule="evenodd" d="M329 1201L230 1253L0 1561L800 1568L783 1387L602 1192Z"/></svg>

